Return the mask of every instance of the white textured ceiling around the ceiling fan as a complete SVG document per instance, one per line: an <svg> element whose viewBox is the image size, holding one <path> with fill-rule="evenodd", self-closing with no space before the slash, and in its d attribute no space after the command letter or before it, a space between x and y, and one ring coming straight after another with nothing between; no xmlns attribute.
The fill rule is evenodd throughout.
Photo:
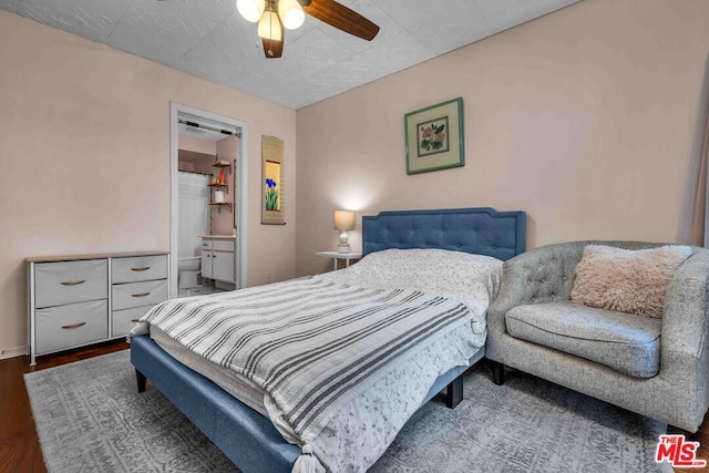
<svg viewBox="0 0 709 473"><path fill-rule="evenodd" d="M377 23L371 42L315 18L266 59L234 0L0 0L0 9L300 109L578 0L339 0Z"/></svg>

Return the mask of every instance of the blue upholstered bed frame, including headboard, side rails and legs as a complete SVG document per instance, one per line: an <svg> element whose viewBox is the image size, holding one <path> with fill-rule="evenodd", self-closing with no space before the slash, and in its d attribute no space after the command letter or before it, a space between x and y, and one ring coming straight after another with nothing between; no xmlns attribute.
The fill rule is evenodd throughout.
<svg viewBox="0 0 709 473"><path fill-rule="evenodd" d="M362 218L364 255L388 248L443 248L506 260L525 250L525 238L524 212L489 207L382 212ZM483 356L480 350L471 364ZM270 420L177 362L148 336L132 339L131 362L138 391L150 379L243 472L290 472L300 448L287 443ZM441 376L424 403L446 389L446 404L458 404L467 368L455 367Z"/></svg>

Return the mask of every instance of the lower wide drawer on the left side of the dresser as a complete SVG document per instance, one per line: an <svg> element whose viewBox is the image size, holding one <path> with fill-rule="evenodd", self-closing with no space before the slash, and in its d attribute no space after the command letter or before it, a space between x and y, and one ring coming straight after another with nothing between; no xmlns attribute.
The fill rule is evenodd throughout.
<svg viewBox="0 0 709 473"><path fill-rule="evenodd" d="M109 338L109 301L92 300L37 310L37 354Z"/></svg>

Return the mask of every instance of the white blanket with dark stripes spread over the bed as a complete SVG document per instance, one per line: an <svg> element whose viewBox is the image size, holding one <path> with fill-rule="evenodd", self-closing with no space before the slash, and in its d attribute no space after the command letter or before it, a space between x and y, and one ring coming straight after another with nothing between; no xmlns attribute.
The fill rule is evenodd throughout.
<svg viewBox="0 0 709 473"><path fill-rule="evenodd" d="M309 277L168 300L141 321L263 388L308 443L402 353L471 317L465 304L433 292Z"/></svg>

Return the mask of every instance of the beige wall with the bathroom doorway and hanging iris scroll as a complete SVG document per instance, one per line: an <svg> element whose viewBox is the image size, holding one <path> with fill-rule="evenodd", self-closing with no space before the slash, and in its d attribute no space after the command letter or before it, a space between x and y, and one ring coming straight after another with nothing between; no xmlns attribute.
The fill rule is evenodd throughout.
<svg viewBox="0 0 709 473"><path fill-rule="evenodd" d="M169 103L248 124L248 284L295 274L286 226L260 225L260 136L296 112L0 10L0 357L25 340L24 257L169 249Z"/></svg>

